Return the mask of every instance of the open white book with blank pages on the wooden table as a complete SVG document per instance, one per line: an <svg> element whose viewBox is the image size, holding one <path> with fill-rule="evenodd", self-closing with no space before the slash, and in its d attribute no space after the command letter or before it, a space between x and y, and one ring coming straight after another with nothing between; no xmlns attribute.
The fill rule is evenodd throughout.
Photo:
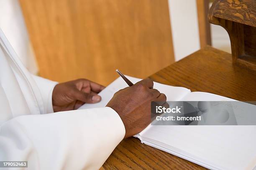
<svg viewBox="0 0 256 170"><path fill-rule="evenodd" d="M127 76L133 83L141 79ZM84 104L79 109L105 107L113 94L127 87L118 78L100 92L102 101ZM167 101L234 101L184 87L154 82L154 88L166 94ZM252 170L256 167L256 126L172 126L149 125L135 137L142 143L171 153L209 169Z"/></svg>

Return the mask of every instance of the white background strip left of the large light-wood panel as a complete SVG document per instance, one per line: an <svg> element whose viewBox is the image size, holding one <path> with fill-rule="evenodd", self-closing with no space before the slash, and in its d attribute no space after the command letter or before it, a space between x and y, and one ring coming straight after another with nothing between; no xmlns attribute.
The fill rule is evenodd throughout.
<svg viewBox="0 0 256 170"><path fill-rule="evenodd" d="M36 74L38 70L33 49L18 0L0 0L0 28L23 64L31 73Z"/></svg>

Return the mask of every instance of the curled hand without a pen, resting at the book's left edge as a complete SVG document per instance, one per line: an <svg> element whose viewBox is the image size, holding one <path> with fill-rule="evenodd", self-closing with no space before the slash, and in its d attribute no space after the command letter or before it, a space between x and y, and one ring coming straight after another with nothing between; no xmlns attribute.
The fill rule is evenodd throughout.
<svg viewBox="0 0 256 170"><path fill-rule="evenodd" d="M101 97L97 94L104 88L86 79L57 84L52 94L54 112L74 110L84 103L97 103L101 101Z"/></svg>

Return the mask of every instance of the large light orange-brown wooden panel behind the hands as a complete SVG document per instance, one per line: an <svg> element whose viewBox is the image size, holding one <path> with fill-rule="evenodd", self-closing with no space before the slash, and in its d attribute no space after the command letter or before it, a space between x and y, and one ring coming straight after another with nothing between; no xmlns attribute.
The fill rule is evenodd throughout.
<svg viewBox="0 0 256 170"><path fill-rule="evenodd" d="M40 75L107 85L174 62L167 0L20 0Z"/></svg>

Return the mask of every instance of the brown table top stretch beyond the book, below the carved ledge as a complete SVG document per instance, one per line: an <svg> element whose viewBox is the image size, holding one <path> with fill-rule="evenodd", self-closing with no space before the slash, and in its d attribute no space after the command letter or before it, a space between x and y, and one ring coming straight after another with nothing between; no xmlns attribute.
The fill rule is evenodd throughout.
<svg viewBox="0 0 256 170"><path fill-rule="evenodd" d="M210 46L150 78L191 91L205 91L240 101L256 100L256 71L233 65L231 54Z"/></svg>

